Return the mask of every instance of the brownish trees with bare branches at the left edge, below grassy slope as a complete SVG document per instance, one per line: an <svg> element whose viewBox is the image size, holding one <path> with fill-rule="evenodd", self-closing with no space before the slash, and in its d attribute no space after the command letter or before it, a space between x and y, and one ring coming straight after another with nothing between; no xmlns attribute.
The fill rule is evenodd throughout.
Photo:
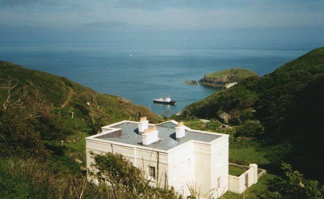
<svg viewBox="0 0 324 199"><path fill-rule="evenodd" d="M46 157L49 150L43 141L69 133L33 83L28 83L23 86L10 78L0 87L4 93L0 102L0 156Z"/></svg>

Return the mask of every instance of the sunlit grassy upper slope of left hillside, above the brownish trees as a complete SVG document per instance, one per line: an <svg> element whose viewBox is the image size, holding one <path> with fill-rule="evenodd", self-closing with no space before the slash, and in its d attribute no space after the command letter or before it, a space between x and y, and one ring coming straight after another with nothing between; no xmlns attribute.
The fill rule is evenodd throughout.
<svg viewBox="0 0 324 199"><path fill-rule="evenodd" d="M89 108L88 104L97 104L108 116L110 115L108 123L124 119L137 120L141 115L147 115L151 122L161 120L158 115L153 114L146 107L135 105L122 97L103 95L65 77L29 70L13 63L0 61L1 87L5 86L9 79L12 79L12 84L18 84L18 87L26 86L38 90L46 99L47 104L53 108L75 111L83 119L91 118L92 113L89 110L91 105ZM1 92L0 102L6 97L6 93ZM87 114L84 114L85 110L88 110Z"/></svg>

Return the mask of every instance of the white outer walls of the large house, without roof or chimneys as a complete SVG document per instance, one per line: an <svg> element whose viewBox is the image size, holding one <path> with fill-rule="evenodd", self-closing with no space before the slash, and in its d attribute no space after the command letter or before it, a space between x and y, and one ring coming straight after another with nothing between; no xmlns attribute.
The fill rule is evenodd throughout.
<svg viewBox="0 0 324 199"><path fill-rule="evenodd" d="M163 188L166 183L184 197L190 195L190 187L196 188L200 198L205 195L218 198L228 191L228 135L219 134L220 138L209 143L191 140L168 151L95 138L113 131L103 128L103 133L86 138L87 168L93 162L90 151L95 154L120 153L133 166L143 169L148 179L149 167L155 167L158 178L151 179L151 186ZM92 180L96 183L96 179Z"/></svg>

